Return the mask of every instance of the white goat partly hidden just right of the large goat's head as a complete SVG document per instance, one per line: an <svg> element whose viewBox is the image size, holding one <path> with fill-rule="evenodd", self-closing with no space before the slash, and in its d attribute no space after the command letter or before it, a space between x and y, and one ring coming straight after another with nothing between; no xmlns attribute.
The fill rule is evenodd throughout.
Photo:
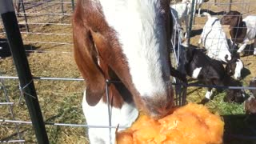
<svg viewBox="0 0 256 144"><path fill-rule="evenodd" d="M189 6L187 3L177 3L170 6L170 12L173 14L173 17L178 22L180 29L182 26L182 22L185 23L185 38L188 38L188 27L189 27L189 17L190 14ZM183 34L181 34L181 38L183 38Z"/></svg>

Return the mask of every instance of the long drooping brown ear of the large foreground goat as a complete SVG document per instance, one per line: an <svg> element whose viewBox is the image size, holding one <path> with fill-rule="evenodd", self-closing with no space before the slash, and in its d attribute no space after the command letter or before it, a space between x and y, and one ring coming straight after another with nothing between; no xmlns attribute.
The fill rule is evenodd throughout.
<svg viewBox="0 0 256 144"><path fill-rule="evenodd" d="M106 79L98 66L98 53L90 29L78 18L73 19L74 59L86 80L86 101L95 106L105 93Z"/></svg>

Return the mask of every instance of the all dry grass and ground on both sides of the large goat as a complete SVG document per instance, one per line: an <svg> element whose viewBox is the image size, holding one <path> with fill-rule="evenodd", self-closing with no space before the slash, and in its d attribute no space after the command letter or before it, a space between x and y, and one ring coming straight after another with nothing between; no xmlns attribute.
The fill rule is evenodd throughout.
<svg viewBox="0 0 256 144"><path fill-rule="evenodd" d="M57 2L57 1L55 1ZM58 1L59 2L59 1ZM70 2L70 1L69 1ZM210 0L213 2L213 0ZM207 3L210 3L207 2ZM227 2L227 0L222 1ZM241 1L240 1L241 2ZM221 12L226 10L227 6L213 6L205 4L203 9L210 9L214 12ZM256 5L256 2L255 2ZM47 7L46 5L38 6L27 10L27 12L40 12L50 13L53 10L59 10L59 5ZM64 7L66 13L71 13L70 5ZM232 7L232 9L240 9L238 6ZM254 12L256 6L250 6L250 14L256 14ZM22 18L19 18L19 22L24 22ZM42 15L37 17L30 16L29 22L58 22L58 23L70 23L70 17L58 16L53 17L49 15ZM193 26L193 30L200 30L206 22L206 18L196 18L196 25ZM0 27L1 29L1 27ZM24 31L25 28L22 28ZM31 32L41 33L64 33L68 35L42 35L42 34L22 34L24 42L40 41L40 42L72 42L71 26L54 26L54 25L33 25L30 26ZM196 32L196 31L194 31ZM4 37L0 35L0 38ZM191 38L191 43L197 45L199 34L194 33L194 37ZM25 43L26 50L46 50L47 53L29 53L28 59L30 63L30 69L34 76L37 77L53 77L53 78L81 78L78 73L77 66L74 63L72 54L73 45L51 45L42 43ZM68 52L68 53L61 53ZM242 57L242 61L246 66L246 75L242 79L244 86L248 85L250 78L256 75L256 58L253 56ZM13 61L11 58L0 59L0 75L16 76ZM250 72L250 74L249 74ZM38 93L42 114L47 122L59 122L59 123L86 123L86 120L82 114L82 92L84 89L84 82L63 82L63 81L46 81L35 80L34 84ZM10 101L14 102L14 114L16 119L22 121L30 121L26 105L18 105L19 91L18 81L6 79L5 87L8 90L8 96ZM188 102L199 102L205 94L206 90L203 88L191 87L188 90L187 100ZM206 106L210 108L214 113L217 112L223 115L235 115L244 114L242 105L230 104L222 101L225 92L214 92L214 99L207 103ZM0 90L0 102L6 102L6 98L2 90ZM24 102L24 100L22 101ZM0 106L0 119L11 119L7 106ZM243 126L243 125L241 125ZM232 127L232 126L230 126ZM26 140L26 143L36 143L34 136L34 130L30 125L19 125L22 133L22 138ZM86 138L86 128L84 127L67 127L67 126L46 126L47 134L50 138L50 143L88 143ZM229 131L229 130L227 130ZM10 139L18 139L15 135L16 131L14 125L10 123L2 123L0 126L0 140L7 138L11 134L14 134Z"/></svg>

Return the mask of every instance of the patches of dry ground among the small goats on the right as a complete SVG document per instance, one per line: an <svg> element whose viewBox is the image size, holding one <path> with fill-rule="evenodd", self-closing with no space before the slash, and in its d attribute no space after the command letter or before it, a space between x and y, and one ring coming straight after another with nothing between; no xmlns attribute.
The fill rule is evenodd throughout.
<svg viewBox="0 0 256 144"><path fill-rule="evenodd" d="M202 9L204 11L208 11L209 13L216 13L216 14L221 14L223 13L223 11L227 10L227 5L216 5L214 6L213 4L214 1L209 1L209 2L206 2L203 6L202 6ZM225 1L218 1L218 2L222 2L222 3L225 3L225 2L229 2L228 0L225 0ZM242 1L233 1L233 2L242 2ZM243 10L243 8L245 8L245 10ZM242 13L245 13L244 15L248 15L248 14L256 14L255 10L256 10L256 2L254 5L251 5L250 7L248 6L241 6L240 5L234 5L232 6L232 10L239 10L241 11ZM249 13L246 13L247 11L249 11ZM222 15L215 15L217 16L218 18L221 18ZM195 24L193 25L193 30L192 30L192 34L193 34L193 37L190 39L190 44L191 45L194 45L194 46L198 46L198 39L200 38L200 31L202 31L202 27L204 26L204 24L206 23L206 20L207 18L206 17L196 17L195 18ZM227 36L230 38L230 35L229 35L229 30L228 30L228 26L223 26L224 30L226 31L226 34ZM194 33L193 33L194 32ZM218 38L218 36L216 36ZM253 46L250 46L248 47L250 50L253 50ZM246 49L248 50L248 49ZM247 52L246 52L247 54ZM256 77L256 57L254 57L253 55L241 55L241 59L242 59L242 62L244 62L244 66L245 66L245 70L243 70L242 72L242 83L243 83L243 86L248 86L249 82L250 82L250 79L251 78L254 78ZM200 101L200 99L204 98L204 94L205 94L206 90L205 89L198 89L198 88L190 88L189 91L188 91L188 100L189 101ZM224 94L218 94L217 92L215 93L217 94L216 97L223 97ZM199 99L199 100L198 100ZM217 101L218 102L218 101ZM211 102L210 102L211 103ZM214 105L214 103L216 102L213 102L212 104L209 104L209 105ZM239 107L240 110L234 110L236 111L235 113L230 113L230 114L243 114L243 108L242 106L237 106L235 105L236 107ZM217 106L210 106L211 107L218 107ZM215 109L216 110L216 109ZM214 110L214 111L215 111ZM218 112L220 112L218 109L217 109ZM222 111L222 110L221 110ZM221 112L220 114L226 114L226 111L224 112Z"/></svg>

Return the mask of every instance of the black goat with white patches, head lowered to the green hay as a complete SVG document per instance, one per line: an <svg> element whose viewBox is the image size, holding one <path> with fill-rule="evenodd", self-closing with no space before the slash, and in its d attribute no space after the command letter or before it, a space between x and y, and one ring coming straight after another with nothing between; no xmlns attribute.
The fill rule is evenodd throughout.
<svg viewBox="0 0 256 144"><path fill-rule="evenodd" d="M235 86L234 79L226 74L222 62L210 58L202 52L194 48L187 48L184 54L184 66L186 74L191 78L198 79L208 86ZM242 102L244 94L242 90L227 90L228 94L234 94L236 98L227 99L228 102ZM207 88L205 98L201 103L206 103L212 96L212 88ZM226 96L228 97L228 95Z"/></svg>

